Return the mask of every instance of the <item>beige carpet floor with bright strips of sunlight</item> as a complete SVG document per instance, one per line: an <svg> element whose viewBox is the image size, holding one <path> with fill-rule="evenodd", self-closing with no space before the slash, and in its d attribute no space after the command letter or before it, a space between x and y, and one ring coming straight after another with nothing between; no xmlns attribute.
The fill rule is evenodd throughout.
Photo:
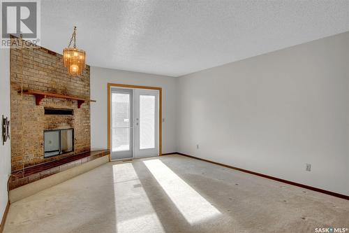
<svg viewBox="0 0 349 233"><path fill-rule="evenodd" d="M10 206L4 232L315 232L349 201L179 155L108 163Z"/></svg>

